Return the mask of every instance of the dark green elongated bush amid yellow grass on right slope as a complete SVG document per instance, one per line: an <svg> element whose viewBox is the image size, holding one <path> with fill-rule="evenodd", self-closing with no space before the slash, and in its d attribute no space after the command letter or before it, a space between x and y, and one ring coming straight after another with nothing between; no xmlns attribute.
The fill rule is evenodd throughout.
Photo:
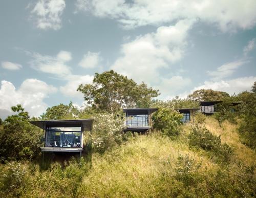
<svg viewBox="0 0 256 198"><path fill-rule="evenodd" d="M233 149L226 143L221 144L221 137L210 133L205 127L193 126L188 139L189 146L210 151L211 158L216 158L217 162L229 162L233 155Z"/></svg>

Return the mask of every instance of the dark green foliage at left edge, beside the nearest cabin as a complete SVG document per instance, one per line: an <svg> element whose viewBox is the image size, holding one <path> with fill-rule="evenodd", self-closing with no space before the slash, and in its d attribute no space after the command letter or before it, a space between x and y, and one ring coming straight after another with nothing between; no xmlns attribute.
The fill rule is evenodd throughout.
<svg viewBox="0 0 256 198"><path fill-rule="evenodd" d="M38 155L40 130L29 123L29 114L21 105L13 106L17 115L8 116L0 130L1 161L31 159Z"/></svg>

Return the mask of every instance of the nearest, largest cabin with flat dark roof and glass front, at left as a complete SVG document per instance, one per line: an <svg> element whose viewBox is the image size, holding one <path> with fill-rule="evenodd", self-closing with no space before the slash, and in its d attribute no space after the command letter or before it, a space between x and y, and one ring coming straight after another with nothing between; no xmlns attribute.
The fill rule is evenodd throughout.
<svg viewBox="0 0 256 198"><path fill-rule="evenodd" d="M83 132L91 131L93 119L31 121L43 129L44 146L42 152L81 152Z"/></svg>

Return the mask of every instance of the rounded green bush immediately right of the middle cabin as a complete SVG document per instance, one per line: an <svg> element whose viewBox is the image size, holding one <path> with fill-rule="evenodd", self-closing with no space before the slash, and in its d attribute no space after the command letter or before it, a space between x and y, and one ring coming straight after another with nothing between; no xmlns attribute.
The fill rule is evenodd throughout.
<svg viewBox="0 0 256 198"><path fill-rule="evenodd" d="M159 104L159 109L152 116L154 128L160 130L164 135L169 137L177 136L180 133L182 124L182 114L175 111L174 107L169 104Z"/></svg>

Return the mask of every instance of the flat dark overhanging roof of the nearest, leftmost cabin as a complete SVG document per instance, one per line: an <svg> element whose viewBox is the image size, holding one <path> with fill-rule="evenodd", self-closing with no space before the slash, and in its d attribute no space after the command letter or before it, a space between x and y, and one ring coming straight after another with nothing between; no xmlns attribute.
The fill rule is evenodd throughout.
<svg viewBox="0 0 256 198"><path fill-rule="evenodd" d="M82 120L42 120L42 121L30 121L31 124L44 129L44 126L48 127L75 127L83 126L83 130L92 130L93 119Z"/></svg>

